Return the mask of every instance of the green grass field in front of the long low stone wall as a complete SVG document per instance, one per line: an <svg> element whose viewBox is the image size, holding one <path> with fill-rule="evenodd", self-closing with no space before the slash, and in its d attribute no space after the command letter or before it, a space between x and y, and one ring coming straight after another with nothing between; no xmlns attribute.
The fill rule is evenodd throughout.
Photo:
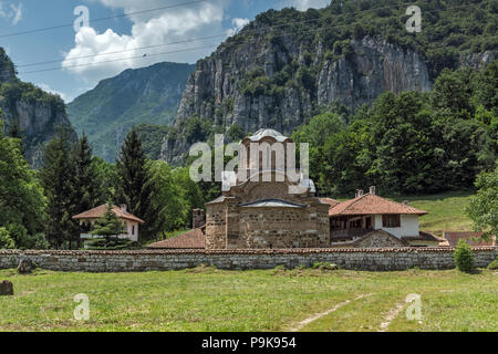
<svg viewBox="0 0 498 354"><path fill-rule="evenodd" d="M498 331L498 272L491 270L3 270L2 279L12 281L15 295L0 298L0 331L378 331L382 323L385 331ZM79 293L90 299L86 322L73 319ZM409 293L422 296L421 321L406 319ZM397 304L404 308L392 315Z"/></svg>

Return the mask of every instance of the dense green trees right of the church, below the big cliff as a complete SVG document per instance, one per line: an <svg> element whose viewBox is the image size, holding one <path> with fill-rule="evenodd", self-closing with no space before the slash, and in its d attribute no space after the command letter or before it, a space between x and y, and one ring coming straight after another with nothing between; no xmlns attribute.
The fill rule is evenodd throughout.
<svg viewBox="0 0 498 354"><path fill-rule="evenodd" d="M310 143L310 174L322 195L384 195L468 189L492 170L498 147L498 61L444 70L430 92L385 92L353 114L331 108L299 127Z"/></svg>

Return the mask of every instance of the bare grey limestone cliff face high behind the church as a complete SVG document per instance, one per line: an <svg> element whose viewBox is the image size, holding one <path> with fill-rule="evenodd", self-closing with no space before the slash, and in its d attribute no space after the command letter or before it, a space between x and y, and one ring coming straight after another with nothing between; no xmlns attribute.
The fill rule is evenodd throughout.
<svg viewBox="0 0 498 354"><path fill-rule="evenodd" d="M384 91L432 87L421 55L380 37L352 40L349 53L339 58L328 58L321 42L311 49L311 56L309 53L310 49L292 37L278 43L221 44L211 56L198 61L187 82L176 127L181 131L186 119L197 116L225 129L238 123L246 132L271 127L290 135L335 102L354 110ZM287 67L298 75L302 71L301 80L282 82L279 75ZM170 163L179 162L189 147L179 136L163 144L163 158Z"/></svg>

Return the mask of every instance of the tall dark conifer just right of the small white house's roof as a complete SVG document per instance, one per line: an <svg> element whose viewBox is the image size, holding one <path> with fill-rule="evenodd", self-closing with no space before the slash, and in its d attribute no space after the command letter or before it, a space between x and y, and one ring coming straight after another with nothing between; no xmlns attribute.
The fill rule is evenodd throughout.
<svg viewBox="0 0 498 354"><path fill-rule="evenodd" d="M126 136L120 158L116 160L116 168L120 176L116 186L117 201L126 204L129 212L145 221L138 241L155 238L159 210L157 204L152 202L154 184L135 128Z"/></svg>

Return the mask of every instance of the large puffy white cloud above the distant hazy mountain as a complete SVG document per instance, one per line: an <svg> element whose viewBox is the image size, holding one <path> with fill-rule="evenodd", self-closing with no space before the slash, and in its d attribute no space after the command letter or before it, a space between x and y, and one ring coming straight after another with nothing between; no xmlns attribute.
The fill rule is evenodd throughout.
<svg viewBox="0 0 498 354"><path fill-rule="evenodd" d="M162 0L98 1L126 13L165 7ZM133 27L129 34L120 34L112 29L98 33L93 28L81 28L75 34L73 49L65 53L62 66L81 75L87 83L96 83L98 80L116 75L129 67L139 67L163 61L195 62L212 52L216 44L225 39L222 37L226 35L222 29L224 6L228 1L214 0L131 14L128 18L133 22ZM90 20L92 20L92 13L90 13ZM218 34L219 38L189 41ZM172 42L183 43L155 46ZM151 45L154 48L136 50ZM80 59L71 60L71 58Z"/></svg>

